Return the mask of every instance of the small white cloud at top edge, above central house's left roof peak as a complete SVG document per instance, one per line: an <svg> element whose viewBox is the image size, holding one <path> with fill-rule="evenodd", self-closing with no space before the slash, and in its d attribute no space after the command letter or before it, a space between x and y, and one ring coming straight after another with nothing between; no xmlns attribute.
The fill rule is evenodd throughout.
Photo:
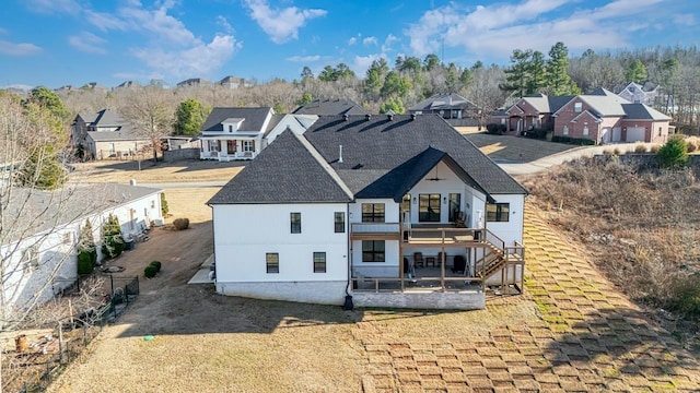
<svg viewBox="0 0 700 393"><path fill-rule="evenodd" d="M299 28L306 21L326 15L326 11L319 9L302 10L296 7L271 9L267 0L244 0L244 4L250 10L253 20L276 44L299 38Z"/></svg>

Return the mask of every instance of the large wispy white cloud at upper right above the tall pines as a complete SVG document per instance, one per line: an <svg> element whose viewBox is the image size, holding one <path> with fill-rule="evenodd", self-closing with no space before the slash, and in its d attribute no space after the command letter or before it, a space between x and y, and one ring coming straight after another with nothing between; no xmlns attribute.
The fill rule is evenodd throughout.
<svg viewBox="0 0 700 393"><path fill-rule="evenodd" d="M508 57L516 48L547 52L556 41L570 49L623 47L653 24L663 0L608 0L598 8L562 7L567 0L523 0L466 9L456 3L423 13L405 31L415 56L463 47L477 56ZM644 15L644 17L640 17Z"/></svg>

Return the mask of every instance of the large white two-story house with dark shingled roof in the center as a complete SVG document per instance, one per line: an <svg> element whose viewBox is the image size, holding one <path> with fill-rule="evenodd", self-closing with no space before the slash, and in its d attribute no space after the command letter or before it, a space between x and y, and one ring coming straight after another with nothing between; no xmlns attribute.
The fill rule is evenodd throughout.
<svg viewBox="0 0 700 393"><path fill-rule="evenodd" d="M438 116L322 116L208 202L217 291L483 308L522 290L526 193Z"/></svg>

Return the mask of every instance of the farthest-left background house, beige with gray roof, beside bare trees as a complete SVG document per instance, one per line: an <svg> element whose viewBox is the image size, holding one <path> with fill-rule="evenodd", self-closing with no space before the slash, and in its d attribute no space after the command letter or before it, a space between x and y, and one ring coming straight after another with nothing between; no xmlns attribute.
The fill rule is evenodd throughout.
<svg viewBox="0 0 700 393"><path fill-rule="evenodd" d="M72 123L71 143L82 145L94 159L124 157L149 150L152 142L140 136L131 124L112 109L78 114Z"/></svg>

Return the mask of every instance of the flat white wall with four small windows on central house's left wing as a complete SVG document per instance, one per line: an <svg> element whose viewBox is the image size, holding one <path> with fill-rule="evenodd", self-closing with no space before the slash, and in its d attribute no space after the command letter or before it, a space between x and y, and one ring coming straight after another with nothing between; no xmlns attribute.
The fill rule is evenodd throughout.
<svg viewBox="0 0 700 393"><path fill-rule="evenodd" d="M291 234L292 212L301 234ZM335 212L346 212L345 233L335 233ZM213 205L212 214L218 284L348 279L346 204ZM279 254L279 273L267 273L268 252ZM314 252L326 252L326 273L314 273Z"/></svg>

